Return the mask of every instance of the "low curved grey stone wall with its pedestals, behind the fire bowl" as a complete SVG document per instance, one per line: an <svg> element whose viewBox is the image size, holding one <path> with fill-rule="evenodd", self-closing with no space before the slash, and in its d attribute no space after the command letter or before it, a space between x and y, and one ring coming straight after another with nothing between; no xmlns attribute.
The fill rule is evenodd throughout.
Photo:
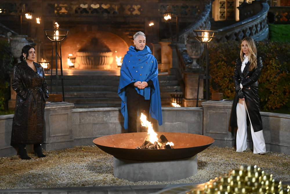
<svg viewBox="0 0 290 194"><path fill-rule="evenodd" d="M235 132L229 127L231 100L206 101L203 108L162 107L163 124L151 120L155 131L181 132L210 136L213 145L232 147ZM43 144L46 150L93 145L93 139L125 133L120 108L77 108L67 102L46 104L46 132ZM261 112L266 150L290 154L290 115ZM10 146L14 115L0 116L0 157L16 155ZM138 129L141 131L142 129ZM248 145L252 146L251 136ZM27 146L32 151L31 145Z"/></svg>

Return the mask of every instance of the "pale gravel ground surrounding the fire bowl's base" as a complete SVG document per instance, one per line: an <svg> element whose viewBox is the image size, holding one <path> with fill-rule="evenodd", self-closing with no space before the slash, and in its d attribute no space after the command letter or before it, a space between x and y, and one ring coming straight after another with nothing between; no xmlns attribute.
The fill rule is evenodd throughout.
<svg viewBox="0 0 290 194"><path fill-rule="evenodd" d="M250 149L238 153L235 148L209 147L197 155L197 174L177 181L131 182L113 176L113 156L96 146L44 152L45 158L19 156L0 158L0 189L52 188L78 186L117 186L204 183L222 176L242 164L257 165L276 180L290 181L290 156L268 152L262 156Z"/></svg>

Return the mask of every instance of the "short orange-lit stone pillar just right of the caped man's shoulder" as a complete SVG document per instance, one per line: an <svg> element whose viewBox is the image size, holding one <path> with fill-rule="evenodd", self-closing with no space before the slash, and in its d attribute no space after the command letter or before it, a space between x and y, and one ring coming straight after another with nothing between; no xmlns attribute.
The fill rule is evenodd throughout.
<svg viewBox="0 0 290 194"><path fill-rule="evenodd" d="M169 46L171 41L162 40L159 43L161 45L161 64L159 69L161 72L167 72L172 67L172 49Z"/></svg>

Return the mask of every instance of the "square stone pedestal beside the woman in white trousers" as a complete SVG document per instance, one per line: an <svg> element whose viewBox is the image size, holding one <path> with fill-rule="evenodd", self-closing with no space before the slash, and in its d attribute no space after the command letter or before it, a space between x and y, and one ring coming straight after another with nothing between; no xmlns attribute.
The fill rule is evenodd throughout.
<svg viewBox="0 0 290 194"><path fill-rule="evenodd" d="M230 125L233 100L208 100L203 107L203 135L215 139L213 146L233 147L235 136Z"/></svg>

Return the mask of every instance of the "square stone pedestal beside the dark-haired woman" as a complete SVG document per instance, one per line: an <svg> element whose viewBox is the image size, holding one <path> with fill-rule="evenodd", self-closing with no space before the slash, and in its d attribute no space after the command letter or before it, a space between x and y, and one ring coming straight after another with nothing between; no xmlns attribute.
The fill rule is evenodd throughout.
<svg viewBox="0 0 290 194"><path fill-rule="evenodd" d="M45 150L66 149L74 146L72 130L73 103L46 103L46 121L43 148Z"/></svg>

